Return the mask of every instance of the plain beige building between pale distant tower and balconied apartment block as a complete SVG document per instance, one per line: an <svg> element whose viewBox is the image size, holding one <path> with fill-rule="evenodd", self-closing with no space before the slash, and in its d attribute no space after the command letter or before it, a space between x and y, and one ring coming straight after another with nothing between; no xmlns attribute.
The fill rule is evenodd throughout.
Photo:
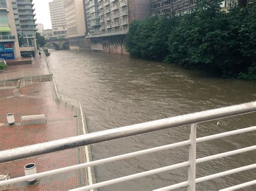
<svg viewBox="0 0 256 191"><path fill-rule="evenodd" d="M65 0L66 24L70 49L79 50L79 39L85 38L85 17L83 0Z"/></svg>

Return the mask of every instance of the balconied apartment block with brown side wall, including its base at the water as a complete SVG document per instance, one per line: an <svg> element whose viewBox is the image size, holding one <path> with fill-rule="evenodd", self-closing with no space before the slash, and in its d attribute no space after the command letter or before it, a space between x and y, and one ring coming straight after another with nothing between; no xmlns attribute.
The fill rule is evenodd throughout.
<svg viewBox="0 0 256 191"><path fill-rule="evenodd" d="M129 54L125 34L133 20L151 14L150 0L85 0L87 39L91 49L114 54Z"/></svg>

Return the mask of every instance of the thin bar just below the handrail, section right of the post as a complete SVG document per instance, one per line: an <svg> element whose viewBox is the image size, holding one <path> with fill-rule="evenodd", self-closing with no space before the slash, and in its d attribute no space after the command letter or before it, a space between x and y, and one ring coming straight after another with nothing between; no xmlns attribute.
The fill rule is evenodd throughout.
<svg viewBox="0 0 256 191"><path fill-rule="evenodd" d="M231 135L237 135L239 133L245 133L245 132L250 132L250 131L256 131L256 126L251 126L250 128L238 129L238 130L234 130L234 131L228 131L228 132L224 132L224 133L218 133L216 135L210 135L210 136L206 136L206 137L200 137L200 138L197 138L197 143L205 142L207 140L213 140L213 139L218 139L218 138L222 138L222 137L227 137L227 136L231 136Z"/></svg>

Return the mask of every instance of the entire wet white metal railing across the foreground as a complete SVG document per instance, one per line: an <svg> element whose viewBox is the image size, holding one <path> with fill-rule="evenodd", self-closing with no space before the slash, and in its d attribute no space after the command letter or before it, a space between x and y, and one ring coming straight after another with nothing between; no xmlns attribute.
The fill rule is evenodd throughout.
<svg viewBox="0 0 256 191"><path fill-rule="evenodd" d="M231 156L234 154L250 152L250 151L254 151L256 149L256 146L252 145L249 147L240 148L238 150L228 151L228 152L210 155L208 157L196 159L197 143L256 130L256 126L251 126L249 128L245 128L245 129L239 129L239 130L219 133L217 135L196 138L197 125L202 122L207 122L207 121L212 121L215 119L232 117L232 116L237 116L237 115L242 115L242 114L248 114L248 113L255 112L255 111L256 111L256 101L250 102L250 103L244 103L244 104L240 104L240 105L233 105L230 107L196 112L193 114L181 115L181 116L177 116L177 117L160 119L157 121L151 121L151 122L140 123L140 124L135 124L135 125L130 125L130 126L124 126L122 128L105 130L105 131L100 131L100 132L95 132L95 133L89 133L86 135L81 135L81 136L76 136L76 137L54 140L52 142L47 142L47 143L35 144L35 145L24 146L24 147L20 147L20 148L14 148L11 150L1 151L0 152L0 162L9 162L12 160L33 157L36 155L41 155L41 154L46 154L46 153L51 153L51 152L56 152L56 151L62 151L62 150L66 150L69 148L75 148L75 147L79 147L79 146L87 146L87 145L91 145L91 144L102 143L107 140L114 140L114 139L118 139L118 138L130 137L130 136L134 136L134 135L140 135L142 133L164 130L164 129L174 128L174 127L178 127L178 126L183 126L183 125L191 125L190 139L185 140L183 142L149 148L149 149L142 150L142 151L137 151L137 152L127 153L127 154L117 155L117 156L110 157L110 158L86 162L84 164L73 165L73 166L59 168L59 169L55 169L52 171L42 172L42 173L38 173L38 174L34 174L34 175L22 176L19 178L5 180L5 181L0 182L0 186L8 185L10 183L21 182L21 181L25 181L25 180L29 180L29 179L42 178L42 177L48 176L48 175L69 172L69 171L73 171L73 170L80 169L80 168L92 167L95 165L105 164L106 162L123 160L123 159L136 157L136 156L143 155L143 154L164 151L164 150L167 150L170 148L177 148L177 147L181 147L181 146L185 146L185 145L190 145L188 161L180 162L179 164L175 164L175 165L152 169L150 171L145 171L142 173L123 176L121 178L117 178L117 179L113 179L113 180L107 180L104 182L95 183L93 185L88 185L88 186L85 186L82 188L77 188L74 190L90 190L90 189L100 188L100 187L124 182L127 180L141 178L141 177L152 175L152 174L171 171L172 169L177 169L177 168L181 168L181 167L188 167L188 180L187 181L177 183L176 185L159 188L156 190L171 190L171 189L181 188L181 187L185 187L185 186L187 186L188 190L196 190L196 183L211 180L214 178L219 178L221 176L225 176L225 175L229 175L229 174L233 174L233 173L237 173L237 172L246 171L248 169L252 169L252 168L256 167L255 164L252 164L252 165L247 165L247 166L242 166L239 168L231 169L229 171L204 176L201 178L196 178L196 164L199 164L199 163L205 162L205 161L223 158L223 157L228 157L228 156ZM242 187L251 185L252 183L255 183L255 182L244 183L244 185L242 185ZM241 185L239 185L239 187L241 187Z"/></svg>

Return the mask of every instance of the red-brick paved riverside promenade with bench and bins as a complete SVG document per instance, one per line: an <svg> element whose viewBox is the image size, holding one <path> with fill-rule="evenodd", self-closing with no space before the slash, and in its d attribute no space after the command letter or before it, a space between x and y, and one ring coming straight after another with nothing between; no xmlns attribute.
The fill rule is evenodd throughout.
<svg viewBox="0 0 256 191"><path fill-rule="evenodd" d="M37 56L31 67L46 67L44 58ZM10 66L10 70L28 69L29 65ZM8 68L9 69L9 68ZM79 135L77 112L55 101L52 82L42 82L17 89L0 89L0 150L7 150L51 140ZM7 124L6 114L14 113L15 124ZM47 115L44 119L24 121L21 116ZM82 163L80 148L39 155L0 164L0 174L11 178L24 175L24 165L35 163L37 172L49 171ZM68 190L84 185L82 170L47 176L33 183L19 182L10 190Z"/></svg>

